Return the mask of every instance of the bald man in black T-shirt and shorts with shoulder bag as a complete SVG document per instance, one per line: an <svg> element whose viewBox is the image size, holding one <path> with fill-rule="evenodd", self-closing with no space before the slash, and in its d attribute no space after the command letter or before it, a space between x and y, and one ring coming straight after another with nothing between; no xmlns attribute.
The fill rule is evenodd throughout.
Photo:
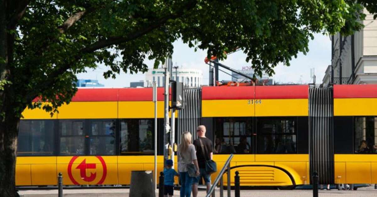
<svg viewBox="0 0 377 197"><path fill-rule="evenodd" d="M211 175L207 174L207 172L205 171L205 161L212 159L213 146L212 146L211 140L205 137L205 132L206 132L206 129L204 125L198 126L198 128L196 129L196 134L198 135L198 139L196 139L193 143L196 149L196 157L198 158L199 172L200 172L200 175L198 177L194 177L194 180L193 180L193 185L192 185L193 197L197 197L198 195L198 184L199 184L201 176L203 177L205 185L207 186L207 193L211 188ZM201 144L203 144L204 149L202 149Z"/></svg>

